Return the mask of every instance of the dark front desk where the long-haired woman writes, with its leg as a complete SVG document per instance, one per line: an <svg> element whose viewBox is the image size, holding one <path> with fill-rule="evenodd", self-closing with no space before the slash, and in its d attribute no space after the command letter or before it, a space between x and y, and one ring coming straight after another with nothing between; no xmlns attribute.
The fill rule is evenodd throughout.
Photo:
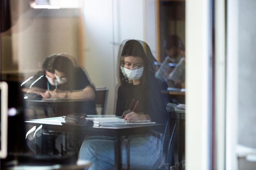
<svg viewBox="0 0 256 170"><path fill-rule="evenodd" d="M33 121L26 121L29 126L36 126L38 128L43 125L42 130L58 131L58 132L72 132L74 135L100 135L110 136L115 139L115 169L122 169L121 157L121 136L137 135L148 133L149 130L164 131L164 124L148 124L148 125L133 125L133 126L93 126L84 127L82 125L62 125L61 117L36 119ZM36 137L36 140L42 140L41 137ZM43 144L43 142L41 142ZM37 150L39 152L39 150Z"/></svg>

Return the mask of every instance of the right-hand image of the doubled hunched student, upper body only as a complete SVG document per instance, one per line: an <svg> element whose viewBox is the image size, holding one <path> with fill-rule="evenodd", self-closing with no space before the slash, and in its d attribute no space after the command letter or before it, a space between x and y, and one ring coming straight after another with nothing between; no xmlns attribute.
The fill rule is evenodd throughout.
<svg viewBox="0 0 256 170"><path fill-rule="evenodd" d="M80 67L75 67L68 57L55 57L52 69L56 77L55 89L46 91L51 98L94 100L94 87L84 71Z"/></svg>

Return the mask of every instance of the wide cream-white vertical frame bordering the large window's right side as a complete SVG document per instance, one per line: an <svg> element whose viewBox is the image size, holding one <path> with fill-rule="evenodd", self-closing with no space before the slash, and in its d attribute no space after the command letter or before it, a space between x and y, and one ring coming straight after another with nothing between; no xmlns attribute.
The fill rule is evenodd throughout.
<svg viewBox="0 0 256 170"><path fill-rule="evenodd" d="M186 1L186 169L210 169L210 0Z"/></svg>

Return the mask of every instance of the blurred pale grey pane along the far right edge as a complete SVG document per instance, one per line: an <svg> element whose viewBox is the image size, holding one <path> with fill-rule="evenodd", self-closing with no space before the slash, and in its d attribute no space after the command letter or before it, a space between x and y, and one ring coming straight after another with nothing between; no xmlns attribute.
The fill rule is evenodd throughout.
<svg viewBox="0 0 256 170"><path fill-rule="evenodd" d="M256 165L256 131L255 131L255 22L251 22L255 15L256 2L237 1L238 6L238 169L254 169ZM244 100L243 100L244 99ZM239 153L240 152L240 153ZM246 156L242 155L245 153Z"/></svg>

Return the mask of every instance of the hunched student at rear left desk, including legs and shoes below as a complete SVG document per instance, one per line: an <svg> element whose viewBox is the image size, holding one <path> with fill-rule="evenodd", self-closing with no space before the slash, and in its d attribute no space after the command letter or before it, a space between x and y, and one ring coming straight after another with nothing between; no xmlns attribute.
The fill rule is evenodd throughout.
<svg viewBox="0 0 256 170"><path fill-rule="evenodd" d="M51 67L53 70L53 75L55 79L49 80L47 75L39 78L34 83L32 83L32 87L34 91L38 89L45 90L45 93L49 96L48 98L52 99L83 99L81 101L73 102L65 102L65 104L61 104L61 102L56 105L54 112L55 116L62 116L71 113L86 113L88 115L97 114L96 106L95 106L95 90L94 87L89 82L87 76L84 71L74 65L74 63L65 55L55 55L53 61L51 62ZM50 82L50 88L47 87L47 82ZM46 90L48 88L48 90ZM32 89L32 88L30 88ZM52 100L54 102L54 100ZM26 141L28 147L32 152L36 153L36 136L41 136L42 133L46 133L47 131L42 131L41 128L31 130L26 137ZM58 136L56 139L56 148L57 152L61 153L60 148L60 139ZM77 150L79 148L77 137L67 137L68 140L68 154L73 155L77 154ZM74 141L74 142L73 142ZM37 141L39 144L37 147L41 147L41 141ZM70 151L70 152L69 152Z"/></svg>

